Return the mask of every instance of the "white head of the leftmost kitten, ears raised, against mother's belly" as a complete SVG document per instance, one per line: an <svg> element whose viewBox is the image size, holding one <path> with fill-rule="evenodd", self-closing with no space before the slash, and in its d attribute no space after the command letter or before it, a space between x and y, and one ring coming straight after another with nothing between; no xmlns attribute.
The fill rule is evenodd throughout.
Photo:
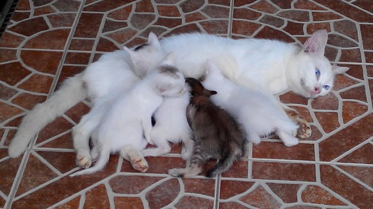
<svg viewBox="0 0 373 209"><path fill-rule="evenodd" d="M144 77L148 70L154 69L166 56L153 32L149 33L147 43L139 45L133 50L126 46L123 49L130 55L134 72L140 77Z"/></svg>

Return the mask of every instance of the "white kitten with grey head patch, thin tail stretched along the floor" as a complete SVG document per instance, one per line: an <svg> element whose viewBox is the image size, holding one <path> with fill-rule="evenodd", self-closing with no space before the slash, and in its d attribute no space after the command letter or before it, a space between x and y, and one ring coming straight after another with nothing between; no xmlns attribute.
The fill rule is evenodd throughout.
<svg viewBox="0 0 373 209"><path fill-rule="evenodd" d="M99 146L98 161L89 169L70 176L91 174L101 170L108 162L110 152L119 151L137 170L145 172L140 150L145 148L152 130L152 115L161 105L163 96L180 96L184 91L184 77L168 55L161 64L138 81L128 93L118 96L105 113L101 124L92 134L95 146ZM145 137L145 139L144 139ZM94 148L96 150L97 147ZM132 152L137 150L136 153ZM136 158L132 158L134 154ZM140 158L140 159L138 159ZM146 161L145 161L146 162Z"/></svg>

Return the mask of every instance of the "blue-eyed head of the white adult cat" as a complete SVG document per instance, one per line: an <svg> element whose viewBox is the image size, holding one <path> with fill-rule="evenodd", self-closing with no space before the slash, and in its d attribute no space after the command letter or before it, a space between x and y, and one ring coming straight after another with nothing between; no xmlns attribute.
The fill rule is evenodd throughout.
<svg viewBox="0 0 373 209"><path fill-rule="evenodd" d="M287 71L289 89L307 98L323 96L333 87L334 76L349 70L331 66L324 57L326 30L318 30L307 39Z"/></svg>

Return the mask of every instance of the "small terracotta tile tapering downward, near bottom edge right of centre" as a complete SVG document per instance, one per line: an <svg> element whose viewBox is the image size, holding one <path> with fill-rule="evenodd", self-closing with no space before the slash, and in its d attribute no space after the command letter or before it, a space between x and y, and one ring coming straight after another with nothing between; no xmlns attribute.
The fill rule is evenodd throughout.
<svg viewBox="0 0 373 209"><path fill-rule="evenodd" d="M299 184L267 183L271 190L285 203L297 202L296 194L301 187Z"/></svg>

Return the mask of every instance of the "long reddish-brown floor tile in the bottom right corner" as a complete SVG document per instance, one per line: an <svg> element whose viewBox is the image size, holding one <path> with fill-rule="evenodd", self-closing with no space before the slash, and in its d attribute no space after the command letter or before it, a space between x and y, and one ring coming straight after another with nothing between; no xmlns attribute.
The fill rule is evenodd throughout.
<svg viewBox="0 0 373 209"><path fill-rule="evenodd" d="M326 165L320 165L321 183L354 203L359 208L369 208L373 202L372 192L344 174Z"/></svg>

